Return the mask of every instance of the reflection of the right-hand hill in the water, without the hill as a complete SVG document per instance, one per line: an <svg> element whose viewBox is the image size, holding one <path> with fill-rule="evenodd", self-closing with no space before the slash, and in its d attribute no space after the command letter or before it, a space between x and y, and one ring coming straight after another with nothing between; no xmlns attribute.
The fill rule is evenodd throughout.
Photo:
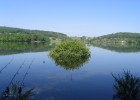
<svg viewBox="0 0 140 100"><path fill-rule="evenodd" d="M93 46L101 47L115 52L140 52L140 44L137 43L100 43Z"/></svg>

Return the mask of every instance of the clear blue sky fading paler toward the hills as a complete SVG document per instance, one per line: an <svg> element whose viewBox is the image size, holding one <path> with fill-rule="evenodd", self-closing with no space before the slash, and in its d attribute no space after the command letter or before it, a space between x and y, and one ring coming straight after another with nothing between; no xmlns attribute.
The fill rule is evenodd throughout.
<svg viewBox="0 0 140 100"><path fill-rule="evenodd" d="M140 0L0 0L0 26L91 37L140 32Z"/></svg>

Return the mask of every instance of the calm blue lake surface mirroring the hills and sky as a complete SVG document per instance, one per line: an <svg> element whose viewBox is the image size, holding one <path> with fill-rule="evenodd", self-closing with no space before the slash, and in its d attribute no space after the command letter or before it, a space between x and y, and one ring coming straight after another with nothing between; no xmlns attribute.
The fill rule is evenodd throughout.
<svg viewBox="0 0 140 100"><path fill-rule="evenodd" d="M89 46L91 57L66 70L48 56L54 45L0 44L0 91L7 86L32 90L33 100L112 100L113 74L130 70L140 76L140 51ZM25 48L23 48L25 47Z"/></svg>

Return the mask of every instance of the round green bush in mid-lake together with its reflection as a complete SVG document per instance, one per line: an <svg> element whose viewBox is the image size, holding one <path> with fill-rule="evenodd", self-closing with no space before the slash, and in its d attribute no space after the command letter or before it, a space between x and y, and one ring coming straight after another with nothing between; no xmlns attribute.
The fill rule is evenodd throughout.
<svg viewBox="0 0 140 100"><path fill-rule="evenodd" d="M65 69L75 69L88 60L90 52L84 44L71 41L57 46L49 55L57 65L61 65Z"/></svg>

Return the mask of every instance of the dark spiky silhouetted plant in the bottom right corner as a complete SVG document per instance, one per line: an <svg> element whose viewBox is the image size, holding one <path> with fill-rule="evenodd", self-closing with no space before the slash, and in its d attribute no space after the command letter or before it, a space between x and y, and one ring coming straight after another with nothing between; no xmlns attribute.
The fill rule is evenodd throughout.
<svg viewBox="0 0 140 100"><path fill-rule="evenodd" d="M140 79L133 76L129 71L124 75L112 76L115 79L114 88L116 94L113 99L116 100L140 100Z"/></svg>

